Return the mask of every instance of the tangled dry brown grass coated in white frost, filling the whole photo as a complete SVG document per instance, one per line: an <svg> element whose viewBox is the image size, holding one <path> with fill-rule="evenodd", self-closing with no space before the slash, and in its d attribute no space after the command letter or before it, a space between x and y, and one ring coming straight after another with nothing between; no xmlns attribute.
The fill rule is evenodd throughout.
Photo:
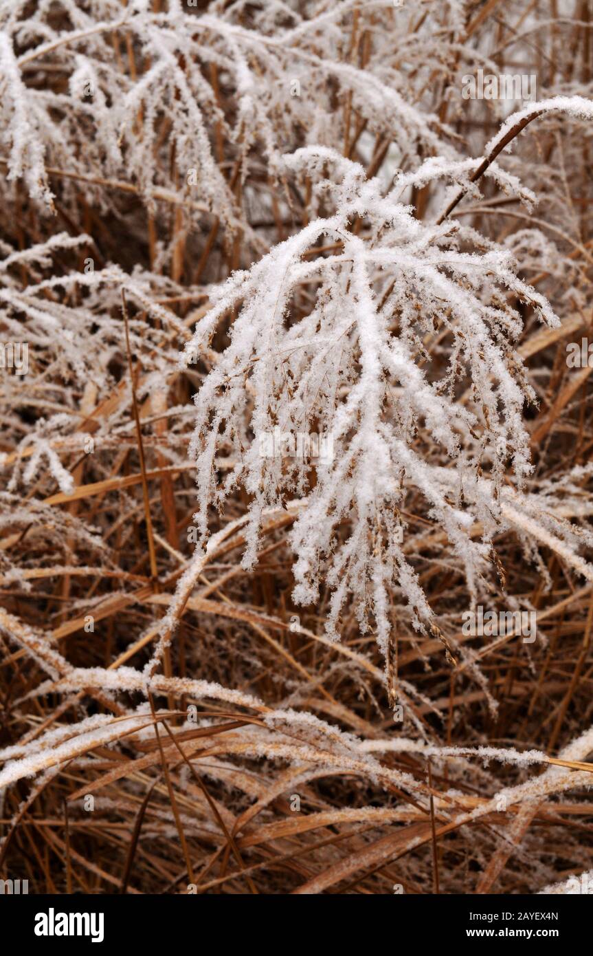
<svg viewBox="0 0 593 956"><path fill-rule="evenodd" d="M29 344L0 387L1 877L475 894L591 869L591 368L566 362L593 335L590 28L590 0L0 3L0 334ZM460 96L477 68L561 106L505 127ZM471 296L495 344L466 353ZM339 325L363 300L401 350L380 507L381 445L333 485L247 453L313 386L313 429L331 389L371 427L375 341ZM315 350L272 368L283 328ZM299 382L329 332L326 394ZM477 601L537 640L465 634Z"/></svg>

